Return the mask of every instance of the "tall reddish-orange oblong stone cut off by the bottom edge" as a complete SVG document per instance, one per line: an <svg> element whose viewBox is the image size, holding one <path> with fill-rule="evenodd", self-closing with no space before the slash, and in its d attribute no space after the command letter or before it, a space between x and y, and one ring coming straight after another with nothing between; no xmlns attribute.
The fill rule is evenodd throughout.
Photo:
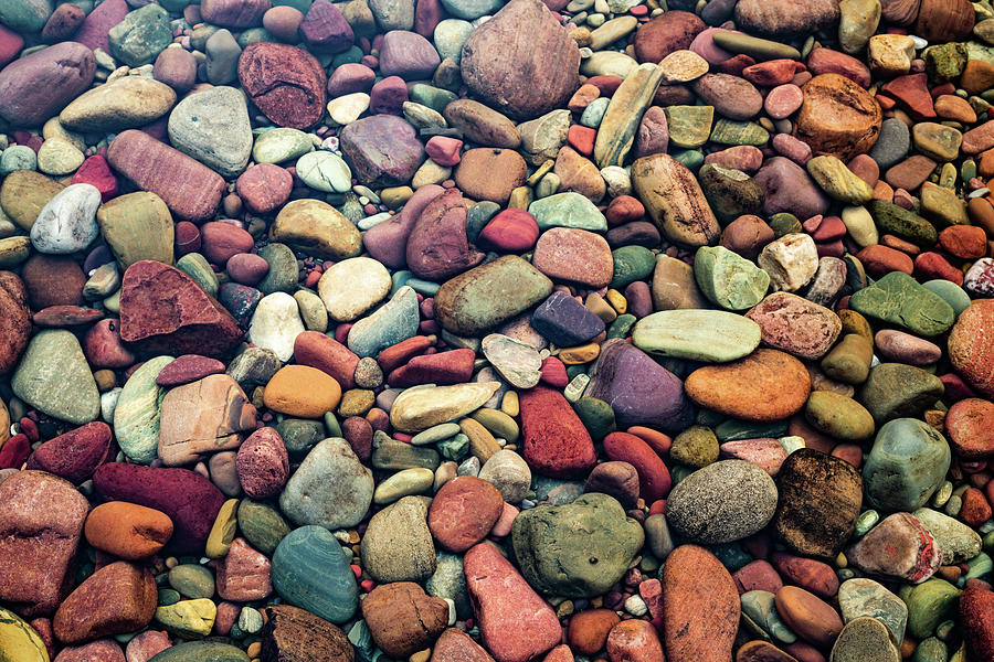
<svg viewBox="0 0 994 662"><path fill-rule="evenodd" d="M728 662L739 629L739 591L718 558L680 545L663 568L663 639L668 662Z"/></svg>

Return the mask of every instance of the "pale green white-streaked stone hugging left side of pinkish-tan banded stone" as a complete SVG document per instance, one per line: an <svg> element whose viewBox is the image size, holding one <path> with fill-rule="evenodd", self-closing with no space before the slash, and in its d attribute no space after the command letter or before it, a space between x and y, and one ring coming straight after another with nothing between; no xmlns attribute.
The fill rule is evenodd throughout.
<svg viewBox="0 0 994 662"><path fill-rule="evenodd" d="M173 361L172 356L149 359L120 389L114 408L114 436L120 450L135 462L150 465L158 457L159 408L166 388L156 384L156 377Z"/></svg>

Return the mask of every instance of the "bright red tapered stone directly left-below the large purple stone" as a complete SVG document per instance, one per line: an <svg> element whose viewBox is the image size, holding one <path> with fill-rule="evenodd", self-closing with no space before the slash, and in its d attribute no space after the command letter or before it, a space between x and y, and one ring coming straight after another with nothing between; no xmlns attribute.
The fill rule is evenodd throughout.
<svg viewBox="0 0 994 662"><path fill-rule="evenodd" d="M518 397L528 466L553 478L586 476L598 462L593 440L562 394L536 386Z"/></svg>

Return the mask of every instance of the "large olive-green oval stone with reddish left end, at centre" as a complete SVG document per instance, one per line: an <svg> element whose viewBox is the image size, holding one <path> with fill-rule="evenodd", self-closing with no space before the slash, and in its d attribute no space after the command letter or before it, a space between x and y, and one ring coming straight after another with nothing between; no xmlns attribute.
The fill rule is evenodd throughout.
<svg viewBox="0 0 994 662"><path fill-rule="evenodd" d="M507 255L444 282L435 293L435 319L456 335L480 335L551 293L549 278Z"/></svg>

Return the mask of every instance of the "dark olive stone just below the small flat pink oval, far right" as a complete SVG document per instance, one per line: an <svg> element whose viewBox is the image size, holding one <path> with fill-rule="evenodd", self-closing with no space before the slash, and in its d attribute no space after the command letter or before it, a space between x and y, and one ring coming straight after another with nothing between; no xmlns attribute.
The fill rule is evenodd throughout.
<svg viewBox="0 0 994 662"><path fill-rule="evenodd" d="M944 392L942 380L930 372L903 363L880 363L870 370L859 391L859 402L877 423L885 423L901 416L919 416Z"/></svg>

